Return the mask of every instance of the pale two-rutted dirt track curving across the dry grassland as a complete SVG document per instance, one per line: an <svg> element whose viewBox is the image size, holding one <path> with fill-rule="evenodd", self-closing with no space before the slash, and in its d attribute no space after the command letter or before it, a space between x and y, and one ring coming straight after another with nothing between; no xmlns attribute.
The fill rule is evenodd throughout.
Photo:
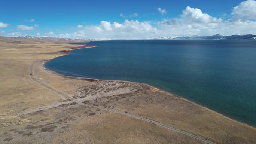
<svg viewBox="0 0 256 144"><path fill-rule="evenodd" d="M41 60L42 61L42 60ZM32 75L30 75L30 78L31 80L33 80L34 82L36 82L37 84L39 85L42 85L44 86L45 88L55 92L56 94L66 98L66 99L70 99L71 101L73 102L76 102L77 104L80 104L80 105L84 105L86 107L92 107L92 108L98 108L98 109L101 109L101 110L105 110L105 111L112 111L114 113L118 113L118 114L122 114L122 115L125 115L125 116L129 116L129 117L133 117L135 119L139 119L139 120L143 120L144 122L149 122L149 123L152 123L152 124L155 124L155 125L158 125L158 126L161 126L161 127L164 127L166 129L169 129L171 131L175 131L175 132L179 132L180 134L183 134L183 135L186 135L186 136L189 136L189 137L192 137L192 138L195 138L197 140L200 140L200 141L203 141L205 143L208 143L208 144L217 144L207 138L204 138L204 137L201 137L201 136L198 136L198 135L194 135L194 134L191 134L189 132L185 132L185 131L182 131L181 129L177 129L177 128L174 128L173 126L169 126L169 125L165 125L163 123L160 123L160 122L156 122L154 120L150 120L150 119L147 119L145 117L141 117L141 116L138 116L138 115L135 115L135 114L132 114L132 113L127 113L125 111L121 111L121 110L114 110L114 109L109 109L109 108L104 108L104 107L99 107L99 106L95 106L95 105L89 105L89 104L85 104L83 102L80 102L76 99L73 99L73 98L70 98L69 96L45 85L44 83L41 83L39 80L37 80L34 76L33 76L33 66L34 64L36 64L37 62L40 62L40 61L35 61L31 66L30 66L30 73L32 73Z"/></svg>

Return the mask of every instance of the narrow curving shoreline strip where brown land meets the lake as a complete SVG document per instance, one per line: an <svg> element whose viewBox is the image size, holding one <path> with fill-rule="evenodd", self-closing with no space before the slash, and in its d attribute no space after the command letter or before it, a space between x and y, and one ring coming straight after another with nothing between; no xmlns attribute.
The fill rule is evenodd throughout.
<svg viewBox="0 0 256 144"><path fill-rule="evenodd" d="M87 43L87 42L85 42L85 43ZM81 45L81 44L79 44L79 43L71 43L71 44ZM85 45L83 45L83 46L85 46ZM82 46L81 46L81 47L79 47L79 48L71 48L70 50L65 50L64 54L61 55L61 56L68 55L68 54L70 54L70 52L71 52L72 50L75 50L75 49L85 49L85 48L94 48L94 47L96 47L96 46L87 46L87 47L86 47L86 46L85 46L85 47L82 47ZM57 56L57 57L61 57L61 56ZM57 57L54 57L54 58L57 58ZM187 102L190 102L190 103L192 103L192 104L194 104L194 105L197 105L197 106L199 106L199 107L202 107L202 108L204 108L204 109L206 109L206 110L209 110L209 111L211 111L211 112L213 112L213 113L215 113L215 114L218 114L218 115L220 115L220 116L222 116L222 117L225 117L225 118L227 118L227 119L233 120L233 121L235 121L235 122L238 122L238 123L241 123L241 124L243 124L243 125L250 126L250 127L254 128L254 129L256 129L256 126L249 125L249 124L247 124L247 123L241 122L241 121L236 120L236 119L232 119L231 117L228 117L228 116L225 116L225 115L223 115L223 114L221 114L221 113L218 113L217 111L214 111L214 110L212 110L212 109L210 109L210 108L208 108L208 107L205 107L205 106L203 106L203 105L197 104L196 102L193 102L193 101L191 101L191 100L189 100L189 99L183 98L182 96L173 94L173 93L171 93L171 92L167 92L167 91L164 91L164 90L162 90L162 89L158 89L158 88L156 88L156 87L154 87L154 86L151 86L151 85L149 85L149 84L147 84L147 83L132 82L132 81L124 81L124 80L93 79L93 78L88 78L88 77L75 77L75 76L66 76L66 75L64 75L64 74L60 74L60 73L58 73L58 72L56 72L56 71L49 70L49 69L47 69L47 68L45 67L45 63L48 62L48 61L51 61L51 60L54 59L54 58L51 58L51 59L47 59L47 58L46 58L46 59L42 59L42 61L43 61L43 68L45 68L45 70L51 71L52 73L57 74L57 75L59 75L59 76L62 76L62 77L65 77L65 78L70 78L70 79L87 80L87 81L90 81L90 82L104 81L104 82L129 82L129 83L140 83L140 84L143 84L143 85L150 86L150 87L153 88L153 89L157 89L157 90L159 90L159 91L163 91L163 92L165 92L165 93L174 95L174 96L176 96L177 98L183 99L183 100L185 100L185 101L187 101Z"/></svg>

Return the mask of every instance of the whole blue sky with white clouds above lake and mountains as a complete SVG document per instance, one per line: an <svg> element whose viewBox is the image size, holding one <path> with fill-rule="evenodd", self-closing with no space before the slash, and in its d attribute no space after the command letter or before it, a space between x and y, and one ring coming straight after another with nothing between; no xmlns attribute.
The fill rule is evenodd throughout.
<svg viewBox="0 0 256 144"><path fill-rule="evenodd" d="M256 34L255 0L0 0L0 36L142 39Z"/></svg>

